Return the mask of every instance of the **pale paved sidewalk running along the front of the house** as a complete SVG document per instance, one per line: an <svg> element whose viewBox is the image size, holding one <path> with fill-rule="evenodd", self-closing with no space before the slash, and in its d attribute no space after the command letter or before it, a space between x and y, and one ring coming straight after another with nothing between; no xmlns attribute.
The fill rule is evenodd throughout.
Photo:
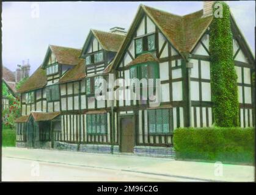
<svg viewBox="0 0 256 195"><path fill-rule="evenodd" d="M85 152L54 151L3 147L4 158L73 165L109 171L131 172L153 177L172 177L178 181L253 182L254 166L222 165L167 158L137 157L128 155L89 154ZM222 170L221 174L218 174ZM216 174L217 173L217 174Z"/></svg>

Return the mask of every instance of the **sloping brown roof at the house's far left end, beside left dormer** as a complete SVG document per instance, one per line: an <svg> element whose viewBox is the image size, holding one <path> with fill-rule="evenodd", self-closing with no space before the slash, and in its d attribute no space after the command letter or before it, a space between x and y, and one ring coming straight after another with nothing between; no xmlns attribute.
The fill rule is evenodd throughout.
<svg viewBox="0 0 256 195"><path fill-rule="evenodd" d="M47 83L46 71L40 66L39 68L37 68L35 73L33 73L31 77L29 77L26 80L26 82L24 82L23 85L21 85L20 89L18 90L18 93L23 93L26 91L31 91L37 88L45 87L46 83Z"/></svg>

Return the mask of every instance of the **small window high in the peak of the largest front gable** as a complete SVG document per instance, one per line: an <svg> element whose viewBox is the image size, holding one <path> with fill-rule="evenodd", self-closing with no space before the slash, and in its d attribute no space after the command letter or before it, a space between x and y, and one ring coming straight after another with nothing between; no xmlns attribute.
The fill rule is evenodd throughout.
<svg viewBox="0 0 256 195"><path fill-rule="evenodd" d="M146 35L135 39L136 55L153 51L155 47L155 34Z"/></svg>

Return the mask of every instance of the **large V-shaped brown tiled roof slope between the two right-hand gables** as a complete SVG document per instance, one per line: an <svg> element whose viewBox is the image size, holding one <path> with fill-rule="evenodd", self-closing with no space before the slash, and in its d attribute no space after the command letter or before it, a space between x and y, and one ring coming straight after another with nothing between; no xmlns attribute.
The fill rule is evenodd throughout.
<svg viewBox="0 0 256 195"><path fill-rule="evenodd" d="M178 16L145 5L142 9L180 52L191 52L213 19L211 15L202 17L203 10Z"/></svg>

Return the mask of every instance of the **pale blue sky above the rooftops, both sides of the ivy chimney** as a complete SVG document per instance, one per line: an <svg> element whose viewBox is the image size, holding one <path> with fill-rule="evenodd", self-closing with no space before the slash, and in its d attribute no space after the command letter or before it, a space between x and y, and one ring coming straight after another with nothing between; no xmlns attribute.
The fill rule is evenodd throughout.
<svg viewBox="0 0 256 195"><path fill-rule="evenodd" d="M252 52L255 52L255 1L226 1ZM23 60L31 73L49 44L82 48L90 29L129 29L139 4L177 15L202 9L203 2L2 2L2 64L12 71Z"/></svg>

